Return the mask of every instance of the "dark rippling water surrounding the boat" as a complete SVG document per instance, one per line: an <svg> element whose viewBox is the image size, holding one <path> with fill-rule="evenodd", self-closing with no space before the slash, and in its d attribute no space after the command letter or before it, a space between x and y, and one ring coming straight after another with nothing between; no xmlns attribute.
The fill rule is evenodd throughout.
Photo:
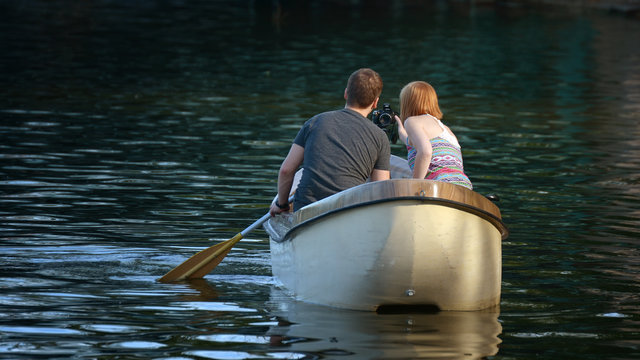
<svg viewBox="0 0 640 360"><path fill-rule="evenodd" d="M376 5L3 2L0 357L640 358L640 22ZM267 211L297 130L362 66L394 107L430 81L501 196L500 309L296 303L262 230L203 281L157 283Z"/></svg>

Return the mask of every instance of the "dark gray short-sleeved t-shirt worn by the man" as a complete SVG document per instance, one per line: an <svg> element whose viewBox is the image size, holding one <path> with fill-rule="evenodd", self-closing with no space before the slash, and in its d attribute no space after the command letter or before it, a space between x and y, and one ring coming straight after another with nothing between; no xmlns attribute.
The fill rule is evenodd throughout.
<svg viewBox="0 0 640 360"><path fill-rule="evenodd" d="M350 109L312 117L293 142L304 148L294 210L365 183L373 169L389 170L387 135Z"/></svg>

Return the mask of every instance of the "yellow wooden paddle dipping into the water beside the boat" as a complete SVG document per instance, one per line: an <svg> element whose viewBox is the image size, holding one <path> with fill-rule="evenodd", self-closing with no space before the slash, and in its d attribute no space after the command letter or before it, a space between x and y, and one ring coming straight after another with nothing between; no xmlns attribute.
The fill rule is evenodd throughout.
<svg viewBox="0 0 640 360"><path fill-rule="evenodd" d="M289 198L289 202L293 201L293 196ZM184 279L199 279L207 275L213 270L222 259L231 251L231 248L240 241L245 235L251 232L253 229L262 225L265 221L269 220L271 215L269 213L264 214L260 219L256 220L253 224L249 225L246 229L237 233L229 240L223 241L211 247L208 247L197 254L193 255L187 261L176 266L173 270L166 273L163 277L158 279L160 282L172 282Z"/></svg>

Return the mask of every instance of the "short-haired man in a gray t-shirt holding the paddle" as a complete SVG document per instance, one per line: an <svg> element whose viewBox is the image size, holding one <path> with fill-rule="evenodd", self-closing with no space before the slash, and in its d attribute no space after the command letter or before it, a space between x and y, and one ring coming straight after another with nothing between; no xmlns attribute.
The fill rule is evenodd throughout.
<svg viewBox="0 0 640 360"><path fill-rule="evenodd" d="M294 210L350 187L389 179L389 139L367 119L378 106L382 79L371 69L349 77L344 109L318 114L300 129L278 173L278 197L272 216L289 210L293 178L303 166Z"/></svg>

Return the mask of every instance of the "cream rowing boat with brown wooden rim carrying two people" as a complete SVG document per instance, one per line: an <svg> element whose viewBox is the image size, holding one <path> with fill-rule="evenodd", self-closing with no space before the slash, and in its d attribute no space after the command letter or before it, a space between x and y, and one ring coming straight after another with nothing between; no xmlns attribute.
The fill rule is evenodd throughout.
<svg viewBox="0 0 640 360"><path fill-rule="evenodd" d="M369 311L472 311L500 302L508 230L492 201L462 186L369 182L265 229L273 275L301 301Z"/></svg>

